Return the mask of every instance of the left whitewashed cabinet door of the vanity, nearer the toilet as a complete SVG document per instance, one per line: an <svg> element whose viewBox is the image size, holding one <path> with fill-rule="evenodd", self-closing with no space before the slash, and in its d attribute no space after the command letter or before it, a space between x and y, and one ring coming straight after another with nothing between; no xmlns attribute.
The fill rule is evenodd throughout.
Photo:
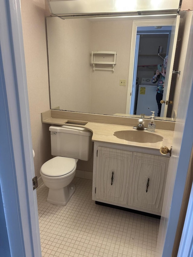
<svg viewBox="0 0 193 257"><path fill-rule="evenodd" d="M132 152L98 147L96 200L127 204Z"/></svg>

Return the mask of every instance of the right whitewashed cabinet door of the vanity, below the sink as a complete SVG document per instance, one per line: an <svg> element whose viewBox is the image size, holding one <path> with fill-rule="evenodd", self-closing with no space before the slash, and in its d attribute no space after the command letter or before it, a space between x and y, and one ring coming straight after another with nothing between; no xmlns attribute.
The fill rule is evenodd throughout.
<svg viewBox="0 0 193 257"><path fill-rule="evenodd" d="M134 152L128 204L160 215L168 165L168 158Z"/></svg>

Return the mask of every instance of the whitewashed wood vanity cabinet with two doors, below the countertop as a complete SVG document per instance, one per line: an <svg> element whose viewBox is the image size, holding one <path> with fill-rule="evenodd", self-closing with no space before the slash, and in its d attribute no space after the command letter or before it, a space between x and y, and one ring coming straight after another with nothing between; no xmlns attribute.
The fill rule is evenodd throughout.
<svg viewBox="0 0 193 257"><path fill-rule="evenodd" d="M161 215L169 157L95 142L93 164L93 200Z"/></svg>

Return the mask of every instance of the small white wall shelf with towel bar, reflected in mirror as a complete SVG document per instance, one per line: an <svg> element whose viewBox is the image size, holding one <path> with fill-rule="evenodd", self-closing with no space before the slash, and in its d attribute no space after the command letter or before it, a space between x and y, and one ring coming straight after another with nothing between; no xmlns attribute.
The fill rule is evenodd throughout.
<svg viewBox="0 0 193 257"><path fill-rule="evenodd" d="M116 62L117 62L116 52L92 51L92 64L93 64L94 71L95 70L114 71ZM103 68L101 67L101 65L96 68L96 64L112 64L112 69Z"/></svg>

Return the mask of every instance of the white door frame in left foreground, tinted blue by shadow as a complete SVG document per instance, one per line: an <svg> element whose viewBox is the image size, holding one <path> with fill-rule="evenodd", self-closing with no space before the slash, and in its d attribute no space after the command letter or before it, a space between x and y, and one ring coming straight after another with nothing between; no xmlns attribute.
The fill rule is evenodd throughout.
<svg viewBox="0 0 193 257"><path fill-rule="evenodd" d="M10 256L40 257L33 152L19 0L0 2L0 185ZM2 215L1 215L2 214ZM5 241L6 233L8 241ZM2 253L1 256L9 256Z"/></svg>

